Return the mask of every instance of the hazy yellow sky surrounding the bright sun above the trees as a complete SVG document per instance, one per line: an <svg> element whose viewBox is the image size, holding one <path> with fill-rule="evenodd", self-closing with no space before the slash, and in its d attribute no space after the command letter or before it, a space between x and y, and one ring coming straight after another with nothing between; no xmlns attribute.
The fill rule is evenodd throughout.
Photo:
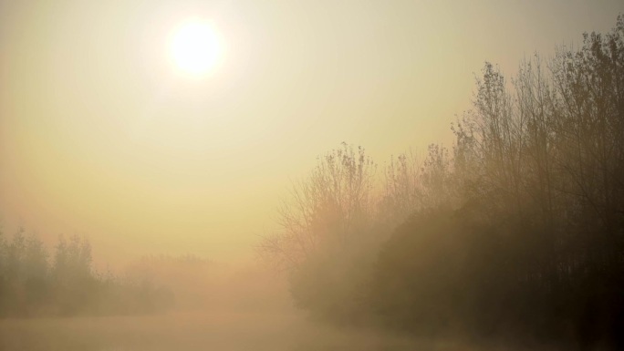
<svg viewBox="0 0 624 351"><path fill-rule="evenodd" d="M248 255L289 181L341 141L382 164L450 142L484 61L513 74L624 13L611 1L2 1L0 219L100 260ZM173 67L212 21L224 61Z"/></svg>

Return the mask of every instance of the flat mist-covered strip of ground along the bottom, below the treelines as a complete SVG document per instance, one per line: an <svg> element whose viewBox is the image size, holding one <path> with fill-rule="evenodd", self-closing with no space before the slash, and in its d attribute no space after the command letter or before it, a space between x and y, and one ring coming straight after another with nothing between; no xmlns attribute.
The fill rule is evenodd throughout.
<svg viewBox="0 0 624 351"><path fill-rule="evenodd" d="M332 330L290 314L172 314L0 321L0 349L3 351L399 351L412 350L415 346L400 337ZM455 348L439 346L434 349Z"/></svg>

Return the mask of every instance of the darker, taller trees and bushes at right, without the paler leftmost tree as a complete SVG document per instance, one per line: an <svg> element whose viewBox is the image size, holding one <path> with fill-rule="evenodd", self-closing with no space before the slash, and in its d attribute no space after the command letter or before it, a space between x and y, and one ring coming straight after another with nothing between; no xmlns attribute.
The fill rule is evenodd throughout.
<svg viewBox="0 0 624 351"><path fill-rule="evenodd" d="M621 347L623 69L621 15L547 69L524 62L511 89L487 63L443 166L459 201L417 212L384 244L373 313L414 333Z"/></svg>

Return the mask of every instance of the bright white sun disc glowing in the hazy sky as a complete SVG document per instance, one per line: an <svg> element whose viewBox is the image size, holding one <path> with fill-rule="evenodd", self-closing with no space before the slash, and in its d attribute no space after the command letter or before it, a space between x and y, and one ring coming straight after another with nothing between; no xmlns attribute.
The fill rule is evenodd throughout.
<svg viewBox="0 0 624 351"><path fill-rule="evenodd" d="M210 22L187 21L172 33L170 55L183 73L202 77L214 70L224 56L222 40Z"/></svg>

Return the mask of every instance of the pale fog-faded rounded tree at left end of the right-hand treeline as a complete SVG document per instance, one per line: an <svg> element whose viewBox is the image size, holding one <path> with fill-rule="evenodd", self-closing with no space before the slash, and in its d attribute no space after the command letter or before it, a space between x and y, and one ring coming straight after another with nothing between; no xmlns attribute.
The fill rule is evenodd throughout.
<svg viewBox="0 0 624 351"><path fill-rule="evenodd" d="M317 159L279 210L280 231L258 253L286 271L299 307L332 319L353 318L375 254L376 165L363 148L343 143Z"/></svg>

